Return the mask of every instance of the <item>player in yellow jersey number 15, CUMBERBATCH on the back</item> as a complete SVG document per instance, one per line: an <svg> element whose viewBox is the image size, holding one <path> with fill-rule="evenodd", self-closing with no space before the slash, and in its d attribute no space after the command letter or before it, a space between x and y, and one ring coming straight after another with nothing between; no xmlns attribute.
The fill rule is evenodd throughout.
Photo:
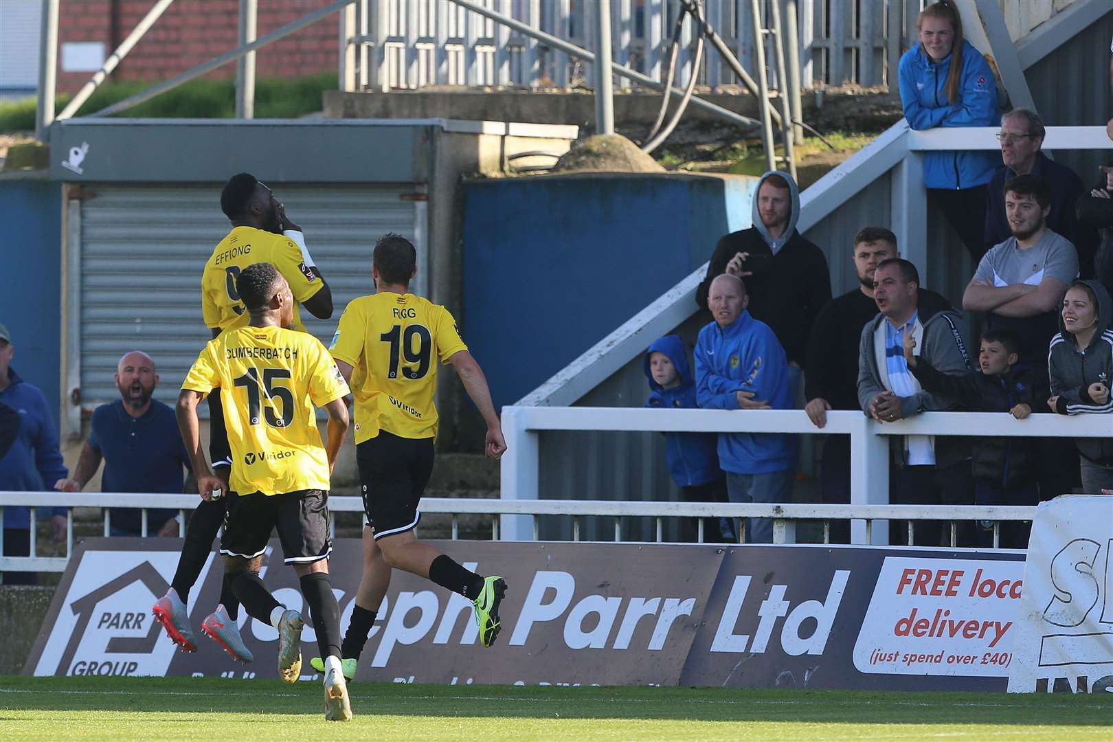
<svg viewBox="0 0 1113 742"><path fill-rule="evenodd" d="M348 388L325 347L290 329L294 296L269 263L245 267L236 289L249 324L226 330L198 356L178 396L178 425L205 499L227 485L201 452L197 404L215 388L224 398L234 456L220 553L225 580L249 615L278 631L278 674L296 682L302 669L305 621L275 600L259 578L262 555L277 531L283 556L294 566L317 632L325 672L325 718L352 718L339 651L339 606L328 580L332 552L328 486L347 433ZM328 413L322 444L314 405Z"/></svg>

